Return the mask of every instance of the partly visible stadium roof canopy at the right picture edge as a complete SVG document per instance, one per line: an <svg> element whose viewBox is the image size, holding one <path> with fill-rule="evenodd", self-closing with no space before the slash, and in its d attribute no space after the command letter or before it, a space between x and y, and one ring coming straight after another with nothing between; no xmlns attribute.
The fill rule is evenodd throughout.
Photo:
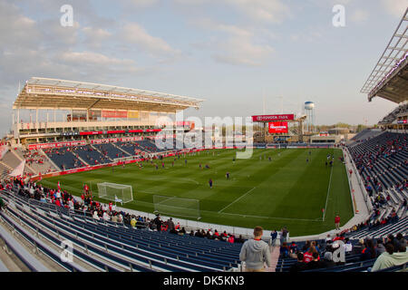
<svg viewBox="0 0 408 290"><path fill-rule="evenodd" d="M393 37L361 90L368 101L381 97L391 102L408 100L408 8Z"/></svg>

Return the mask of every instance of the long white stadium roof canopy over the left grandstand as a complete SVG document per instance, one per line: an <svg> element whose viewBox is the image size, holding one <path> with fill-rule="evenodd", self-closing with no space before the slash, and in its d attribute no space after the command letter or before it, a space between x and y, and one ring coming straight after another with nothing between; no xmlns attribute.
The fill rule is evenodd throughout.
<svg viewBox="0 0 408 290"><path fill-rule="evenodd" d="M13 109L175 112L199 109L201 102L203 100L170 93L34 77L25 83Z"/></svg>

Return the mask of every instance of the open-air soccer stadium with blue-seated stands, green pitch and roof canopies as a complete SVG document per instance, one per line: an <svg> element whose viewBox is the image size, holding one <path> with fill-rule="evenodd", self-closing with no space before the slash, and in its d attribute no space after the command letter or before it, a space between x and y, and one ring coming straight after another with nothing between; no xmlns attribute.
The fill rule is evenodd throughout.
<svg viewBox="0 0 408 290"><path fill-rule="evenodd" d="M408 9L361 89L393 111L353 134L308 100L239 127L180 118L201 97L30 77L0 147L0 271L245 272L262 227L262 271L406 272L407 29Z"/></svg>

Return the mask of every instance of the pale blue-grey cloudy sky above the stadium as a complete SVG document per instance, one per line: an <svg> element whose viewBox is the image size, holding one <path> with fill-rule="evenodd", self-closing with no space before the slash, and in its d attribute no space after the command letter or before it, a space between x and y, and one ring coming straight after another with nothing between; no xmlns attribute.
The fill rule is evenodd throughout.
<svg viewBox="0 0 408 290"><path fill-rule="evenodd" d="M205 100L186 117L297 114L310 101L317 124L374 124L397 104L368 102L360 90L407 7L408 0L0 0L0 133L11 128L19 83L31 77Z"/></svg>

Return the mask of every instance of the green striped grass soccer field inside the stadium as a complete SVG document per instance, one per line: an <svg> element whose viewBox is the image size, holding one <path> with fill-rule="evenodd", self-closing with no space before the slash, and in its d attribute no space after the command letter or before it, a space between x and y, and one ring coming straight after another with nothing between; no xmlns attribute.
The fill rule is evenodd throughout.
<svg viewBox="0 0 408 290"><path fill-rule="evenodd" d="M155 160L159 169L154 163L142 162L143 169L129 164L41 182L56 189L60 181L61 188L74 195L81 195L84 183L92 184L93 190L96 183L105 181L131 185L134 200L123 207L146 212L154 211L153 195L199 199L202 222L268 230L286 226L292 237L334 228L336 213L342 225L353 217L345 165L338 160L342 150L256 149L252 158L233 162L236 151L201 151L176 158L174 167L174 157L169 157L164 159L164 169ZM325 167L327 154L335 154L333 167Z"/></svg>

